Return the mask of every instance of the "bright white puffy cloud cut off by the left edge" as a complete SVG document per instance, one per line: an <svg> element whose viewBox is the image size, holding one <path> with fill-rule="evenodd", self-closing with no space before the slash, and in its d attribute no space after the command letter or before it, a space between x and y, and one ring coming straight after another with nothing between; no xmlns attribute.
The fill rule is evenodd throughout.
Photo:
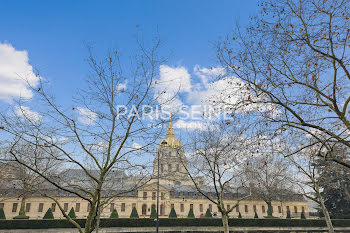
<svg viewBox="0 0 350 233"><path fill-rule="evenodd" d="M0 99L11 102L18 97L26 100L32 98L33 93L25 80L35 87L39 79L29 64L27 51L0 43Z"/></svg>

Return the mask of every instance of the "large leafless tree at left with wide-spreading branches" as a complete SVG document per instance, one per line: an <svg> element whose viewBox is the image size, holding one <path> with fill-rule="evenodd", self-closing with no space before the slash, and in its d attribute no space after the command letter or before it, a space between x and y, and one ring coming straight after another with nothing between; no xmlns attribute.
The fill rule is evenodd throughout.
<svg viewBox="0 0 350 233"><path fill-rule="evenodd" d="M0 114L1 129L7 133L11 144L8 153L12 160L57 189L89 203L84 232L96 228L100 209L108 201L104 193L112 187L108 179L115 170L138 176L137 182L128 189L121 187L122 184L115 187L114 196L132 191L148 179L140 156L145 156L157 139L155 126L159 121L151 121L144 115L156 104L152 87L163 60L158 57L159 38L155 38L149 48L142 42L137 44L138 53L130 58L130 63L122 60L118 51L99 61L89 48L87 61L91 73L70 106L63 106L50 94L41 79L39 86L31 86L36 105L32 103L29 108L19 101L12 112L7 110ZM64 173L53 179L40 167L21 159L21 153L15 149L18 143L46 149L48 159L59 160L67 168L80 170L82 175L78 181L64 179ZM58 154L50 153L49 149L55 149ZM137 154L140 151L143 155ZM43 158L36 160L39 159ZM56 202L64 217L79 232L83 232L56 196L48 193L46 196Z"/></svg>

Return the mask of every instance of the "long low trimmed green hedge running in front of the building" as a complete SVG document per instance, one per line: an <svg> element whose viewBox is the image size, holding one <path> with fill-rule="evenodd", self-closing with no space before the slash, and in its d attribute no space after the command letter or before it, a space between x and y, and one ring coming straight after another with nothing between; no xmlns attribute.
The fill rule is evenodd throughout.
<svg viewBox="0 0 350 233"><path fill-rule="evenodd" d="M84 226L85 219L75 219ZM333 219L335 227L350 227L350 220ZM160 226L222 226L221 219L195 218L195 219L159 219ZM326 227L324 220L311 219L229 219L230 226L240 227ZM153 219L101 219L101 227L154 227ZM54 220L0 220L0 229L50 229L50 228L74 228L65 219Z"/></svg>

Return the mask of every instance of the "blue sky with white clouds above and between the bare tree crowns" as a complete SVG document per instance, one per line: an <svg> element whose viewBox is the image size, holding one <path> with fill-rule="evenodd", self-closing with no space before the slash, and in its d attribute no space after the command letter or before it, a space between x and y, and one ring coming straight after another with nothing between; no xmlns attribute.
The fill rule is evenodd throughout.
<svg viewBox="0 0 350 233"><path fill-rule="evenodd" d="M0 105L11 106L22 97L28 104L15 112L40 120L30 109L33 93L21 77L35 86L40 78L35 71L40 71L57 99L69 105L89 73L86 44L93 45L100 55L116 47L128 54L135 50L137 32L150 38L157 31L163 43L162 55L171 54L159 67L159 90L166 89L168 95L180 92L182 98L174 100L175 106L200 104L225 86L211 83L212 77L224 74L217 66L212 42L232 33L236 20L246 24L255 11L255 0L2 0ZM127 82L123 85L126 87ZM82 123L91 124L96 117L87 109L78 111ZM179 120L175 127L201 126Z"/></svg>

